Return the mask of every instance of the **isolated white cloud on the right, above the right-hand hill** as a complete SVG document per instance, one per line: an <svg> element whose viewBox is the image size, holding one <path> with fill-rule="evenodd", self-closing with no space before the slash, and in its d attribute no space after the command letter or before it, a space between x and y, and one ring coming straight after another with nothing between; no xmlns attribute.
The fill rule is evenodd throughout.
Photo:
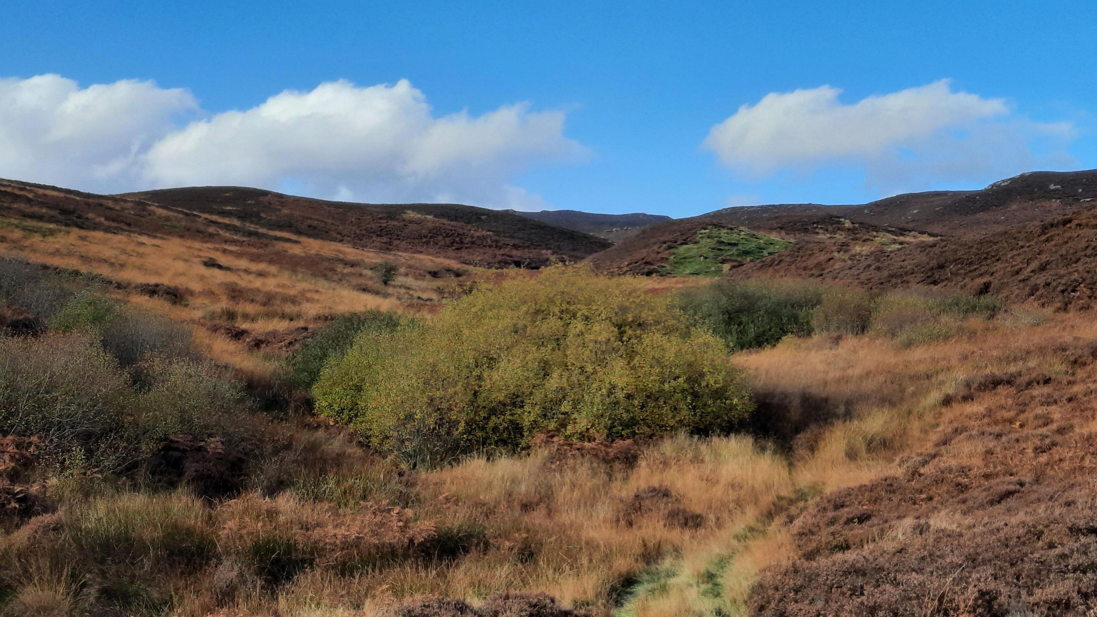
<svg viewBox="0 0 1097 617"><path fill-rule="evenodd" d="M840 93L829 86L769 93L713 126L703 147L754 178L856 165L887 190L1061 165L1073 137L1068 123L1029 121L1003 99L953 91L949 80L851 104Z"/></svg>

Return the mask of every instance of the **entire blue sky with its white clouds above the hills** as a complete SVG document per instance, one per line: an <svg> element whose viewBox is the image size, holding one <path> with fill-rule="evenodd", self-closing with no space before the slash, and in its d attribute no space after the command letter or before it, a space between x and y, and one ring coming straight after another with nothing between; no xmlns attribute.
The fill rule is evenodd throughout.
<svg viewBox="0 0 1097 617"><path fill-rule="evenodd" d="M1092 0L3 12L0 177L88 190L688 216L1097 167Z"/></svg>

